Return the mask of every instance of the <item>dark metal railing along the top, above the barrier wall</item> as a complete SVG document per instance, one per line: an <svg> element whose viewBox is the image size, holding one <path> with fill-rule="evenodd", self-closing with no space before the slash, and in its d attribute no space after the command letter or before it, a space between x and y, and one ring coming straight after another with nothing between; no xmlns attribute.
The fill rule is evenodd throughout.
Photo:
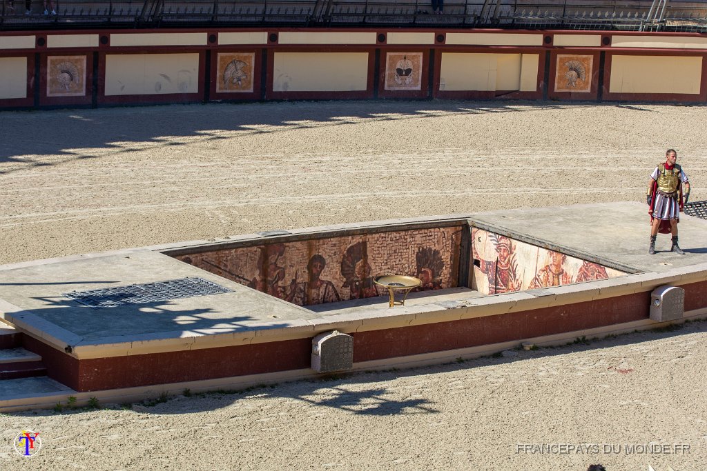
<svg viewBox="0 0 707 471"><path fill-rule="evenodd" d="M0 0L0 29L406 26L707 32L704 1L669 0Z"/></svg>

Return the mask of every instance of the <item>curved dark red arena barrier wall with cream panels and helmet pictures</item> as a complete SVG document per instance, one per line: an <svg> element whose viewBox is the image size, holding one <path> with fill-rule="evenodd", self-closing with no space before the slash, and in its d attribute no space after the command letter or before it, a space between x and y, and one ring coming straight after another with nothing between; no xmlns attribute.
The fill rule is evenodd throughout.
<svg viewBox="0 0 707 471"><path fill-rule="evenodd" d="M707 101L707 35L554 30L0 33L0 109L244 100Z"/></svg>

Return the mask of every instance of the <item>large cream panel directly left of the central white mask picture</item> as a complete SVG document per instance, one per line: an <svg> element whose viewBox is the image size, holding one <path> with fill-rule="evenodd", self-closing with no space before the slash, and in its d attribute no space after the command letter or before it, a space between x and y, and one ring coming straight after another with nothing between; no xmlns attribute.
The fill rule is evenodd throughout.
<svg viewBox="0 0 707 471"><path fill-rule="evenodd" d="M276 52L276 92L353 92L368 88L368 52Z"/></svg>

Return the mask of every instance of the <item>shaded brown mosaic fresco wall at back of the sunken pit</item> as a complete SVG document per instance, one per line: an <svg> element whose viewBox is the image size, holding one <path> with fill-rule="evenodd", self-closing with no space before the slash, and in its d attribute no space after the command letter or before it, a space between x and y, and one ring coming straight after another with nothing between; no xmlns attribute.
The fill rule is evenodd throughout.
<svg viewBox="0 0 707 471"><path fill-rule="evenodd" d="M414 229L176 256L299 306L387 294L378 275L413 275L419 290L456 287L462 227ZM379 291L380 290L380 291Z"/></svg>

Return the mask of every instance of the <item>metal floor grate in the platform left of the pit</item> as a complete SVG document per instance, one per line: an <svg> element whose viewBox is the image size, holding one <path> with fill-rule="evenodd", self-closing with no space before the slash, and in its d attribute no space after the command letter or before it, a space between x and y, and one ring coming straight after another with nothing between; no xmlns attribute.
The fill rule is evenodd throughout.
<svg viewBox="0 0 707 471"><path fill-rule="evenodd" d="M103 290L72 291L64 296L84 306L116 307L124 304L146 304L149 302L169 301L207 294L232 292L221 285L203 278L180 278L178 280L128 285Z"/></svg>

